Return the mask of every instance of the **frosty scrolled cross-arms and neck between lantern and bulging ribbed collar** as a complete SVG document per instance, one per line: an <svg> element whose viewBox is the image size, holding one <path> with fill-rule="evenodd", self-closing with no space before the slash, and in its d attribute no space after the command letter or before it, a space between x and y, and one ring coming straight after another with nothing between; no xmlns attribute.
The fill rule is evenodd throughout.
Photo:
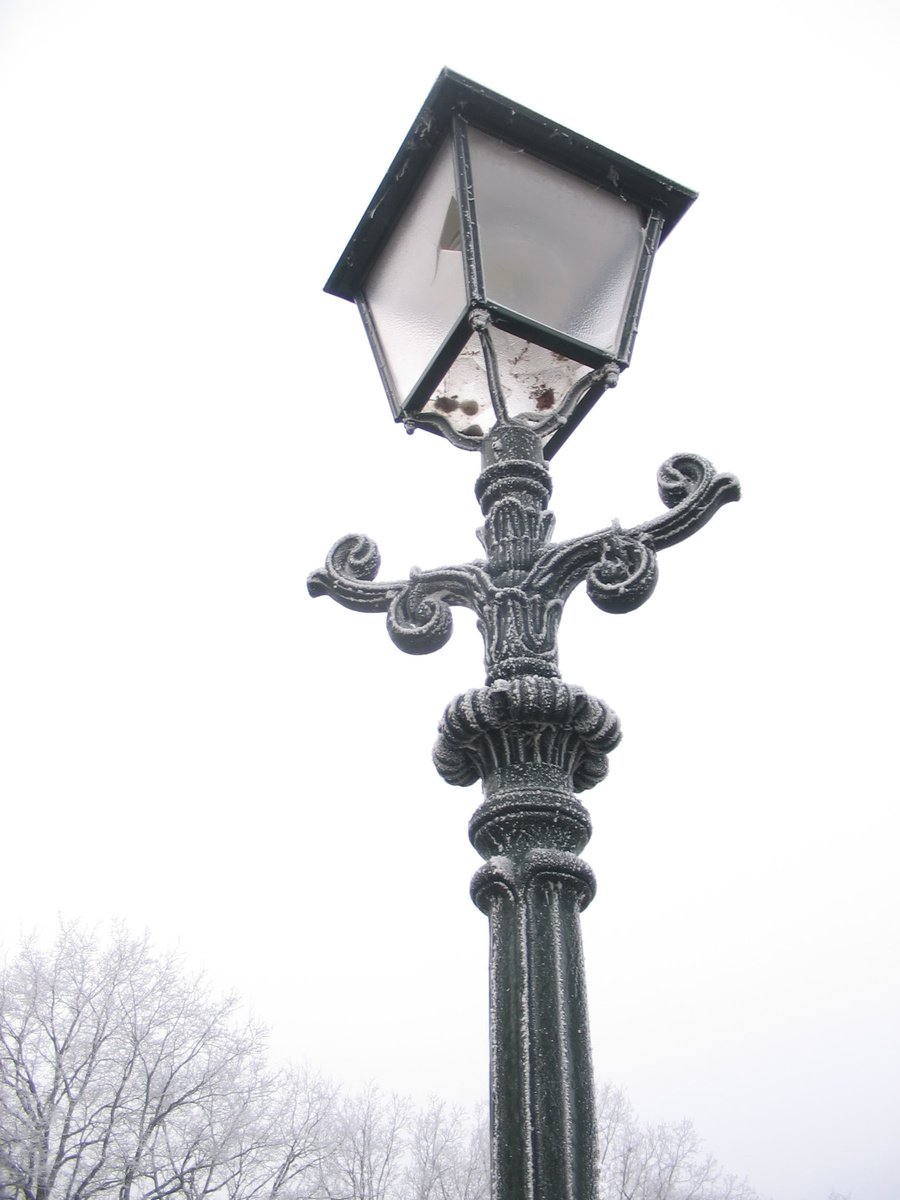
<svg viewBox="0 0 900 1200"><path fill-rule="evenodd" d="M527 457L527 434L500 428L499 458L475 487L485 515L479 536L486 562L432 571L413 571L403 581L376 582L378 547L360 534L331 548L324 570L313 571L312 595L330 595L359 612L385 612L388 632L407 654L430 654L452 632L451 606L470 608L485 638L487 683L557 671L557 630L572 589L586 581L592 601L606 612L630 612L653 593L656 552L690 536L722 504L740 496L733 475L716 474L698 455L679 454L658 473L667 512L623 529L617 522L599 533L550 544L550 474L535 449ZM535 448L539 446L536 436Z"/></svg>

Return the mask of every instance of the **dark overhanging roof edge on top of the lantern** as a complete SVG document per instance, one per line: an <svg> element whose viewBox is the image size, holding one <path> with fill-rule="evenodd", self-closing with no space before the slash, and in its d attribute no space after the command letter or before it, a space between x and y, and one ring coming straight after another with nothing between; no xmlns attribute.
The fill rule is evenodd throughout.
<svg viewBox="0 0 900 1200"><path fill-rule="evenodd" d="M450 132L455 114L485 133L659 212L662 239L697 198L690 188L445 67L378 185L325 292L343 300L356 298L436 150Z"/></svg>

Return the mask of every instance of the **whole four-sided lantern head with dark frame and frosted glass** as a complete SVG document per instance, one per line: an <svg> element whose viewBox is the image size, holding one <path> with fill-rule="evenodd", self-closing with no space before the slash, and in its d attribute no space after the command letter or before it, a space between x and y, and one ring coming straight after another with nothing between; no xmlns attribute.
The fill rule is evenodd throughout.
<svg viewBox="0 0 900 1200"><path fill-rule="evenodd" d="M397 421L467 449L514 421L550 457L629 365L694 199L445 70L325 290L358 305Z"/></svg>

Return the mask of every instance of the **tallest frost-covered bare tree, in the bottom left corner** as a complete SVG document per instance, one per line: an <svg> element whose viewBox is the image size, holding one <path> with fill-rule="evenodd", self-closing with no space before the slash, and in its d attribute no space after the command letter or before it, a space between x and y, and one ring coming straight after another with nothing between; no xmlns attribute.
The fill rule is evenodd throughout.
<svg viewBox="0 0 900 1200"><path fill-rule="evenodd" d="M329 1090L275 1075L234 997L77 928L0 973L4 1200L275 1200L323 1158Z"/></svg>

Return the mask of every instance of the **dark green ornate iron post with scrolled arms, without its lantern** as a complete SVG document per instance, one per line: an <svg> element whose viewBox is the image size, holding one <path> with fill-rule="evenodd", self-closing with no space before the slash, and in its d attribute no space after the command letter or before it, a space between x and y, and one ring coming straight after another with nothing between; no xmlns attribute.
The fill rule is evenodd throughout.
<svg viewBox="0 0 900 1200"><path fill-rule="evenodd" d="M590 1200L593 1066L578 914L594 877L578 857L590 818L576 793L606 774L619 727L610 708L560 679L557 630L582 581L600 608L636 608L656 582L656 551L738 499L739 486L704 458L676 455L658 476L667 512L554 545L536 433L504 414L482 460L475 494L486 559L378 583L374 542L350 534L308 589L386 612L388 632L412 654L445 644L450 606L478 616L485 686L446 708L434 763L450 784L484 786L469 838L485 859L472 896L491 929L492 1195Z"/></svg>

